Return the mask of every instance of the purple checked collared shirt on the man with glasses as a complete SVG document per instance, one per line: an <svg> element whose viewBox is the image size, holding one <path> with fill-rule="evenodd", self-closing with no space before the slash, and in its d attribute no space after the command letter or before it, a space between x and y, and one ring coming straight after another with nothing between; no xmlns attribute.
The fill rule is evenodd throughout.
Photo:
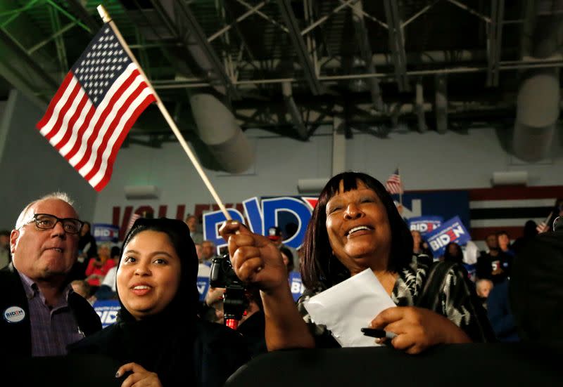
<svg viewBox="0 0 563 387"><path fill-rule="evenodd" d="M65 355L66 346L84 338L72 310L68 306L70 284L56 306L47 306L37 284L27 275L19 273L30 308L32 356Z"/></svg>

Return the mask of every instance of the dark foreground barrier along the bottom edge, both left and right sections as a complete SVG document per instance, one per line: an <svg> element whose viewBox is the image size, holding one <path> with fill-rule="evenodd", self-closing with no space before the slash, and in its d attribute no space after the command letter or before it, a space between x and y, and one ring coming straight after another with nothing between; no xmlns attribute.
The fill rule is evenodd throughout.
<svg viewBox="0 0 563 387"><path fill-rule="evenodd" d="M251 360L225 387L563 386L562 360L562 346L521 343L438 346L414 356L383 347L283 350ZM119 367L97 355L2 356L0 386L118 387Z"/></svg>

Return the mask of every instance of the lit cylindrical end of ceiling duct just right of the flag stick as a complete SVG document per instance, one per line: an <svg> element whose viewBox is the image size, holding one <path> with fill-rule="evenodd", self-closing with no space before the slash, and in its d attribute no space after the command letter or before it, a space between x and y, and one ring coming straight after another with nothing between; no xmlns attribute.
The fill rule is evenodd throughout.
<svg viewBox="0 0 563 387"><path fill-rule="evenodd" d="M189 103L198 135L222 170L241 173L250 168L254 150L231 110L210 93L191 94Z"/></svg>

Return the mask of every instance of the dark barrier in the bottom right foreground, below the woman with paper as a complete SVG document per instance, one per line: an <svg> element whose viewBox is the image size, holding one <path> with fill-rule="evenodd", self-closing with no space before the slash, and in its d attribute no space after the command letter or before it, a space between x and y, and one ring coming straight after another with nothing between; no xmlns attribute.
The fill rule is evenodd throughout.
<svg viewBox="0 0 563 387"><path fill-rule="evenodd" d="M284 350L241 367L225 387L563 386L563 347L438 346L420 355L393 348Z"/></svg>

